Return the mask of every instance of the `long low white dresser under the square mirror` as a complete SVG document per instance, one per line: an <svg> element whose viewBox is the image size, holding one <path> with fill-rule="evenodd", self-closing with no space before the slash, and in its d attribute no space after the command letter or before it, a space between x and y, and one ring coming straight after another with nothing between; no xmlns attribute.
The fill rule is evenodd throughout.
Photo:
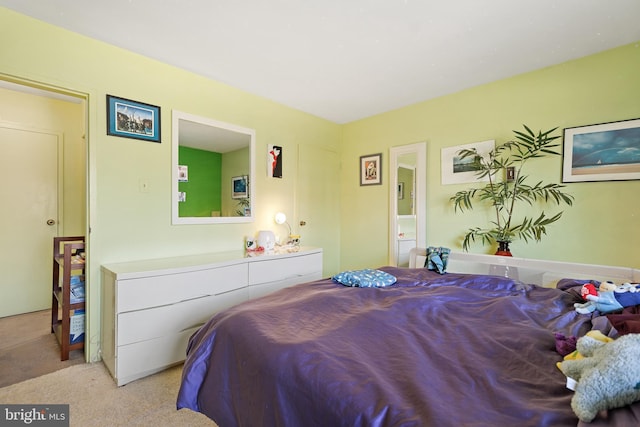
<svg viewBox="0 0 640 427"><path fill-rule="evenodd" d="M322 249L222 252L102 266L102 360L121 386L182 362L218 311L322 278Z"/></svg>

